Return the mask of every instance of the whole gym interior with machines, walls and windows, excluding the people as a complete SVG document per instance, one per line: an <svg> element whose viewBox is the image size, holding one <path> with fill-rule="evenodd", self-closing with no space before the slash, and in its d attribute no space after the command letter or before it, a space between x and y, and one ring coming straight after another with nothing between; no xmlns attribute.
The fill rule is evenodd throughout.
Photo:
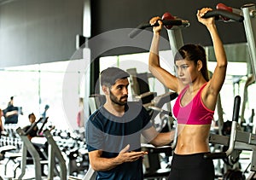
<svg viewBox="0 0 256 180"><path fill-rule="evenodd" d="M226 17L218 3L232 7ZM12 101L18 112L16 123L7 123L2 114L0 179L96 178L84 125L105 102L99 77L108 67L130 74L129 101L143 102L157 131L175 129L172 106L177 96L148 71L152 39L148 20L169 12L179 23L161 33L160 59L167 71L175 73L175 49L195 43L206 50L212 72L216 66L212 42L196 20L202 7L214 10L229 63L206 158L213 160L215 179L256 179L255 4L255 0L0 0L0 109ZM36 117L32 125L39 128L32 139L23 129L30 125L31 113ZM142 143L142 148L148 151L144 179L167 179L173 144L155 148Z"/></svg>

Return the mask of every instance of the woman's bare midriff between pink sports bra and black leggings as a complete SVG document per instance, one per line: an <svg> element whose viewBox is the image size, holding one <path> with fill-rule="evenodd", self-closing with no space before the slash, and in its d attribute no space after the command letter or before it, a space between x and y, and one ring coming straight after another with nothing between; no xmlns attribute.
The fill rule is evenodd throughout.
<svg viewBox="0 0 256 180"><path fill-rule="evenodd" d="M175 154L197 154L209 152L211 125L177 125Z"/></svg>

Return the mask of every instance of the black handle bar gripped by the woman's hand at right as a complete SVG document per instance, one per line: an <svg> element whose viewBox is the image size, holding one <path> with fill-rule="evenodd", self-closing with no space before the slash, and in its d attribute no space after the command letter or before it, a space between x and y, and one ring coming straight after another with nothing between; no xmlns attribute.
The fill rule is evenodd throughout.
<svg viewBox="0 0 256 180"><path fill-rule="evenodd" d="M237 15L237 14L231 13L230 11L223 10L223 9L208 11L206 13L206 15L204 15L203 17L204 18L215 17L216 20L219 20L220 19L219 16L228 18L230 20L236 20L238 22L242 22L244 20L244 17L242 15Z"/></svg>

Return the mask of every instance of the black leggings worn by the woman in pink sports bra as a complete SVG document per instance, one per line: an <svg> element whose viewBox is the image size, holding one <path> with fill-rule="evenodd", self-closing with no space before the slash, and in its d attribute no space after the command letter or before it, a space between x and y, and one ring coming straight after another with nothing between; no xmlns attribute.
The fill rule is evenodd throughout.
<svg viewBox="0 0 256 180"><path fill-rule="evenodd" d="M173 154L168 180L214 180L212 160L202 154Z"/></svg>

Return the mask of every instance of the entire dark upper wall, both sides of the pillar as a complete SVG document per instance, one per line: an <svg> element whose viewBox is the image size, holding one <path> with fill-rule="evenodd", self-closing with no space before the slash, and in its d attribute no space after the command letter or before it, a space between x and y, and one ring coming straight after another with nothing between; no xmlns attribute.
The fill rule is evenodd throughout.
<svg viewBox="0 0 256 180"><path fill-rule="evenodd" d="M83 3L84 0L12 0L0 4L0 67L70 60L76 52L75 36L83 34ZM131 39L127 33L142 22L148 22L151 17L161 16L165 12L189 20L190 26L183 29L185 44L209 46L212 44L209 34L197 22L195 14L201 7L215 9L218 3L216 0L93 0L92 38L123 28L126 34L113 33L107 39L103 37L92 41L92 59L147 52L151 36ZM221 3L240 9L243 4L255 3L255 0L223 0ZM224 44L246 42L242 23L218 21L217 26ZM151 32L150 28L147 30ZM162 32L162 36L167 40L166 31ZM143 42L143 46L137 42ZM113 47L111 44L114 44ZM160 49L170 49L169 44L161 44Z"/></svg>

